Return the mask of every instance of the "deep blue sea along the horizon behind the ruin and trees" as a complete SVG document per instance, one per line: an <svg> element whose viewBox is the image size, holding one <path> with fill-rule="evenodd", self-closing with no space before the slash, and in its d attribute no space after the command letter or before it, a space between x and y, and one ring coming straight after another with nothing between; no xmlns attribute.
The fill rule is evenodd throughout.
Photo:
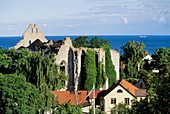
<svg viewBox="0 0 170 114"><path fill-rule="evenodd" d="M71 36L46 36L48 40L64 40L70 37L74 40L77 35ZM111 48L123 53L121 47L128 41L135 40L145 44L145 50L150 54L154 54L155 50L161 47L170 48L170 35L89 35L89 39L98 37L100 39L108 40L111 43ZM2 49L10 49L15 46L17 42L22 39L22 36L0 37L0 47Z"/></svg>

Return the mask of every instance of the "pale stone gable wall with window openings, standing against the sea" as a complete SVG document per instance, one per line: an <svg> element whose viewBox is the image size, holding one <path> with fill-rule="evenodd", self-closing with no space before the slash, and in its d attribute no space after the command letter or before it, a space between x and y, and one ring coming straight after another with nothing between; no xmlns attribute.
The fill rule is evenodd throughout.
<svg viewBox="0 0 170 114"><path fill-rule="evenodd" d="M39 27L36 24L34 25L30 24L23 34L23 39L20 40L16 44L16 46L14 46L14 48L18 49L21 46L28 47L36 39L39 39L42 42L48 41L45 38L45 35L43 34L43 32L39 29Z"/></svg>

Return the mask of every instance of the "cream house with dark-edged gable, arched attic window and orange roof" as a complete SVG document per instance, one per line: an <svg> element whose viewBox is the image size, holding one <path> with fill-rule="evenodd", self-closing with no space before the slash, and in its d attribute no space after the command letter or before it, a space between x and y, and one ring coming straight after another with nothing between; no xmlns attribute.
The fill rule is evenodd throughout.
<svg viewBox="0 0 170 114"><path fill-rule="evenodd" d="M139 89L124 79L98 94L100 107L106 113L110 113L111 109L119 103L131 106L132 100L140 101L145 97L146 89Z"/></svg>

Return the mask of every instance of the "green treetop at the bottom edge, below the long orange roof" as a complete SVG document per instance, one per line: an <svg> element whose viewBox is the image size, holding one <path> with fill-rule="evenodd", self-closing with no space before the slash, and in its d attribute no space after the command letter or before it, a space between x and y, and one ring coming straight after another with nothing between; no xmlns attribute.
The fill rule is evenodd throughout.
<svg viewBox="0 0 170 114"><path fill-rule="evenodd" d="M57 105L53 114L83 114L83 112L80 106L72 105L70 102L68 102Z"/></svg>

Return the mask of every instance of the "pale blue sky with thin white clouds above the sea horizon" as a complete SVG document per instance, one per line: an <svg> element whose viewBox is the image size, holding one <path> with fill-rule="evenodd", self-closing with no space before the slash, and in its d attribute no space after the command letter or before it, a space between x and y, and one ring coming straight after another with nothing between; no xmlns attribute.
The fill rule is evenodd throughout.
<svg viewBox="0 0 170 114"><path fill-rule="evenodd" d="M170 35L170 0L0 0L0 36Z"/></svg>

